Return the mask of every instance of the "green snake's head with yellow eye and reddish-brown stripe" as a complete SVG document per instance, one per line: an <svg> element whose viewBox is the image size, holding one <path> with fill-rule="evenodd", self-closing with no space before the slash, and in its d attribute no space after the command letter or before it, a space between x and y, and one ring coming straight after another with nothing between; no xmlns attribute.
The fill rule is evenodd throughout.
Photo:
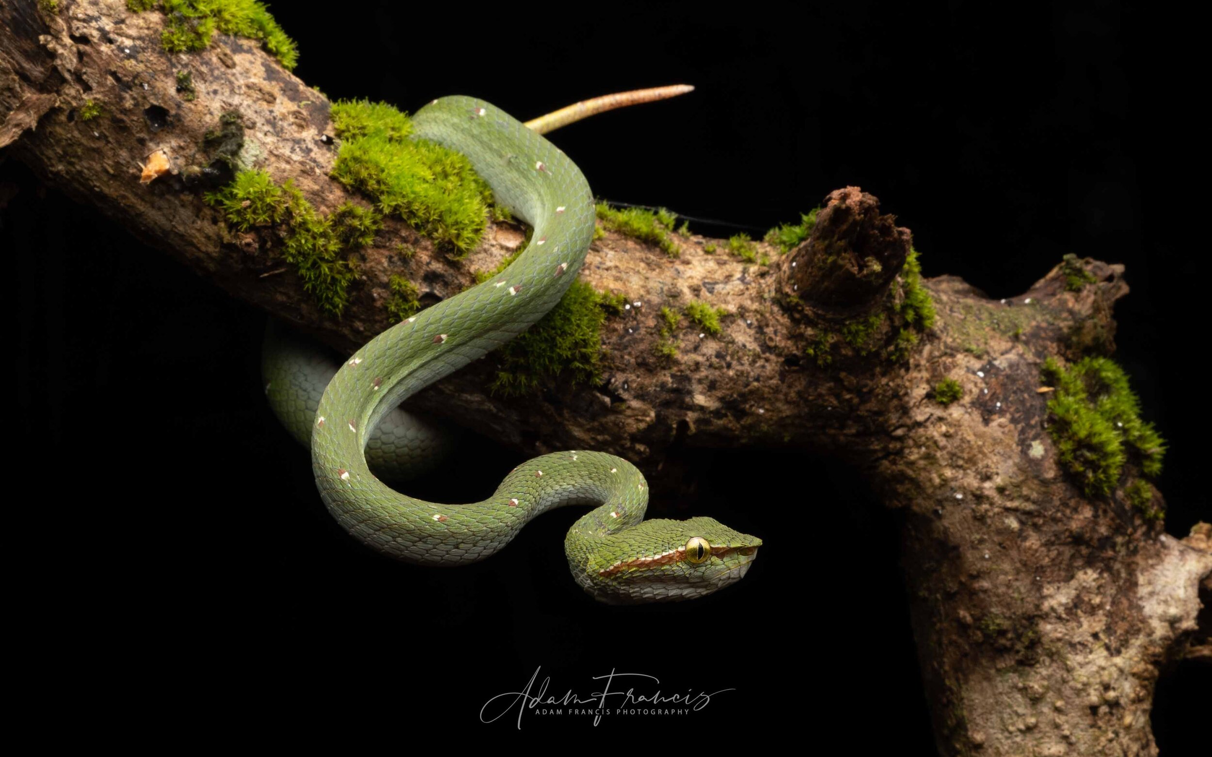
<svg viewBox="0 0 1212 757"><path fill-rule="evenodd" d="M644 521L584 554L565 545L577 583L608 604L704 597L744 578L759 546L709 517Z"/></svg>

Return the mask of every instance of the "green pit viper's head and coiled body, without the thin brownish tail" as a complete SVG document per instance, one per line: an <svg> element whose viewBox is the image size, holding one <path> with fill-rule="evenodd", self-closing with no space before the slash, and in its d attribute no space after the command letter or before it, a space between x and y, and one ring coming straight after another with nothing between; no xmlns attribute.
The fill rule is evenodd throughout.
<svg viewBox="0 0 1212 757"><path fill-rule="evenodd" d="M462 505L406 497L372 472L406 477L447 445L433 425L396 406L543 317L577 277L594 235L585 177L525 124L469 97L436 99L412 121L413 138L464 154L496 201L532 226L532 237L503 273L384 331L336 375L296 339L267 339L267 395L310 446L328 512L379 552L458 566L493 555L541 512L590 505L564 546L577 584L594 598L690 600L739 580L761 540L709 517L645 521L647 483L614 455L545 454L515 468L486 500Z"/></svg>

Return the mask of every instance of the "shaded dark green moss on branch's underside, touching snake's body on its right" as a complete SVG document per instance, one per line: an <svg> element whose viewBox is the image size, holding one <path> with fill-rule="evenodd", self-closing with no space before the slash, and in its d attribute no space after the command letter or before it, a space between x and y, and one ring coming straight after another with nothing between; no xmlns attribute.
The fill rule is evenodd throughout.
<svg viewBox="0 0 1212 757"><path fill-rule="evenodd" d="M497 351L501 369L491 391L526 394L544 377L561 377L568 385L600 383L601 327L610 308L605 298L584 281L573 281L555 308Z"/></svg>

